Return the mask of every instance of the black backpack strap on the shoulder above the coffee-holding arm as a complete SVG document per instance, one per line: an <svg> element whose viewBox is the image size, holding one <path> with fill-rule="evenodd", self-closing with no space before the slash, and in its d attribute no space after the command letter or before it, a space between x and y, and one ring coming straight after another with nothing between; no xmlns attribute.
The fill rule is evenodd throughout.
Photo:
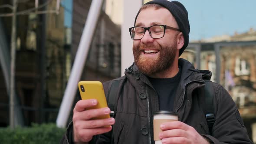
<svg viewBox="0 0 256 144"><path fill-rule="evenodd" d="M204 95L205 95L204 114L205 114L205 118L206 118L206 121L207 121L207 124L208 124L210 134L211 134L213 124L215 122L215 116L214 116L214 113L213 113L213 110L214 110L214 105L213 105L214 89L213 89L212 82L210 82L209 80L205 80L204 84L206 85L204 87Z"/></svg>

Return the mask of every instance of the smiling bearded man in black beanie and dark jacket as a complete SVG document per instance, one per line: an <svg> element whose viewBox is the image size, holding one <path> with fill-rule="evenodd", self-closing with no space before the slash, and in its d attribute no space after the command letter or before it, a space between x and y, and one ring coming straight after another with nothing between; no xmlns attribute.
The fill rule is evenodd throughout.
<svg viewBox="0 0 256 144"><path fill-rule="evenodd" d="M104 83L108 99L112 83L120 81L115 119L94 120L110 109L86 110L97 101L78 101L61 143L154 144L153 113L175 111L179 121L161 125L162 144L252 144L229 93L213 82L215 123L208 128L202 101L204 82L210 80L211 72L179 59L190 32L187 10L180 2L144 4L129 31L135 63L125 76ZM113 125L113 130L105 125Z"/></svg>

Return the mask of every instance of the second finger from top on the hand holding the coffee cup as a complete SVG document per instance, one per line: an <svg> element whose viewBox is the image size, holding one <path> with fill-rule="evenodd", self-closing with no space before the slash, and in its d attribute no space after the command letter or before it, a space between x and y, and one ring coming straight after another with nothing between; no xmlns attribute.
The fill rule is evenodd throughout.
<svg viewBox="0 0 256 144"><path fill-rule="evenodd" d="M167 138L167 137L186 137L189 138L189 134L187 131L184 131L182 129L172 129L172 130L167 130L159 133L159 138Z"/></svg>

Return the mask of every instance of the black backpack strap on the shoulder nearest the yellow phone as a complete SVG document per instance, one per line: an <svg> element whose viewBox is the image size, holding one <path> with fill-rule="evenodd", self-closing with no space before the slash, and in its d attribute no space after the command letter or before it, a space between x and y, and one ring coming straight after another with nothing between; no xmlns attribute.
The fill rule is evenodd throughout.
<svg viewBox="0 0 256 144"><path fill-rule="evenodd" d="M112 118L115 118L115 111L117 108L117 101L118 98L117 96L117 92L118 92L118 87L119 87L119 83L120 83L121 79L119 80L114 80L110 86L109 89L109 95L108 95L108 108L110 108L110 116ZM111 130L111 144L114 144L114 137L113 137L113 128L114 126L112 125L112 130Z"/></svg>

